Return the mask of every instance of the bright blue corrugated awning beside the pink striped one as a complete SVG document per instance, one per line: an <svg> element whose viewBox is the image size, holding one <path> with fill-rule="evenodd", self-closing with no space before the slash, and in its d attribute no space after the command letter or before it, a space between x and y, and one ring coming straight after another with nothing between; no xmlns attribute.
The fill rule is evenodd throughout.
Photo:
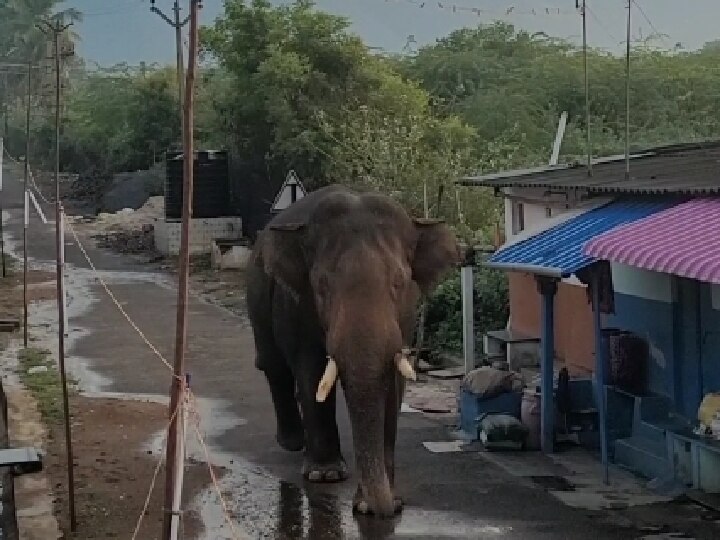
<svg viewBox="0 0 720 540"><path fill-rule="evenodd" d="M597 259L583 254L585 243L620 225L666 210L679 201L624 200L572 218L496 252L488 266L552 277L569 277Z"/></svg>

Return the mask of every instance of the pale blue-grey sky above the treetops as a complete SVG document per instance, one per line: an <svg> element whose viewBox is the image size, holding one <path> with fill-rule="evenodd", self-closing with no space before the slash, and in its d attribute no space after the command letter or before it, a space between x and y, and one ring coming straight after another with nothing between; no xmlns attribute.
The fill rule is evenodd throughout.
<svg viewBox="0 0 720 540"><path fill-rule="evenodd" d="M587 0L590 45L619 51L625 39L627 0ZM720 39L718 0L633 0L633 39L666 35L662 45L697 49ZM370 46L391 52L433 43L464 26L502 20L529 31L544 31L579 42L576 0L317 0L319 9L347 17ZM278 0L276 3L280 3ZM173 0L156 0L168 14ZM181 0L187 13L189 0ZM223 0L203 0L201 21L210 24ZM150 0L66 0L85 13L75 27L79 53L100 65L172 63L173 29L150 12ZM511 9L512 8L512 9ZM534 13L533 13L534 11Z"/></svg>

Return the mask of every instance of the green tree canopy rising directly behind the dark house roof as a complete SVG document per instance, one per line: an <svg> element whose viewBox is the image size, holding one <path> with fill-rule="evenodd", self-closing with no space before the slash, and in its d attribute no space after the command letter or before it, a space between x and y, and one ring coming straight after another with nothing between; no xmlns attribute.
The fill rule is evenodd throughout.
<svg viewBox="0 0 720 540"><path fill-rule="evenodd" d="M717 57L716 44L685 53L658 50L649 42L634 44L633 148L718 136ZM483 172L545 162L562 111L569 114L562 157L572 160L586 153L583 58L567 42L496 23L453 32L401 65L433 95L436 111L459 115L483 141L504 139L514 147L511 159L479 160ZM590 50L588 65L593 153L621 152L624 58Z"/></svg>

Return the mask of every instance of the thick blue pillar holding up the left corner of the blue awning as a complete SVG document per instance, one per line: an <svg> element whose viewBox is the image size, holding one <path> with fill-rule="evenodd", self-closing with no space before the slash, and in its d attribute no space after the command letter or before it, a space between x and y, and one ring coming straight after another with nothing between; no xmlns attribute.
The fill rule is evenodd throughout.
<svg viewBox="0 0 720 540"><path fill-rule="evenodd" d="M542 451L552 453L555 442L555 294L557 293L557 280L538 277L538 289L542 295L542 335L541 335L541 408L540 442Z"/></svg>

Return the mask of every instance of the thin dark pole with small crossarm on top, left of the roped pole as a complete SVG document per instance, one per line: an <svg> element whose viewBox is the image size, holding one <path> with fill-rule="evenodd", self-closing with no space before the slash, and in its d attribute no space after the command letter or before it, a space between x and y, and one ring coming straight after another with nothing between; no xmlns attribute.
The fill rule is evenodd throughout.
<svg viewBox="0 0 720 540"><path fill-rule="evenodd" d="M54 24L44 22L41 28L46 34L52 34L53 59L55 61L55 249L57 270L57 302L58 302L58 364L63 387L63 414L65 416L65 448L67 454L68 474L68 507L70 511L70 530L77 530L75 516L75 474L73 470L72 433L70 428L70 404L68 399L67 376L65 372L65 239L63 231L63 208L60 200L60 36L72 23L63 25L61 20Z"/></svg>

